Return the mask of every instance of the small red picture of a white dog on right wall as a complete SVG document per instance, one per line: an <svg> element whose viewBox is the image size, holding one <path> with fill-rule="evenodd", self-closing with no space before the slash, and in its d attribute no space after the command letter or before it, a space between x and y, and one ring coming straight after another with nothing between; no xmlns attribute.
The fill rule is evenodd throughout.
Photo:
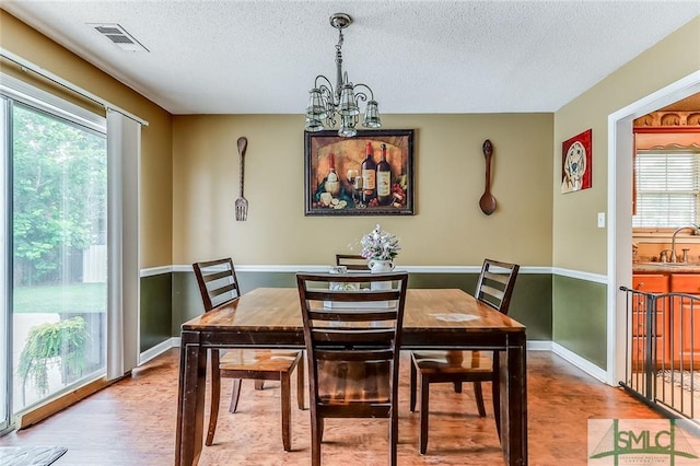
<svg viewBox="0 0 700 466"><path fill-rule="evenodd" d="M561 145L561 193L593 186L593 129L583 131Z"/></svg>

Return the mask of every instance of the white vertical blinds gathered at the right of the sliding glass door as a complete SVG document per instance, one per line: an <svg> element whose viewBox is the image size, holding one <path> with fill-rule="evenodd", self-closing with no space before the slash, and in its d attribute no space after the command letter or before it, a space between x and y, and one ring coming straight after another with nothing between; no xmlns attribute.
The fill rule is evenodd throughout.
<svg viewBox="0 0 700 466"><path fill-rule="evenodd" d="M139 165L141 125L107 112L107 378L136 368L139 356Z"/></svg>

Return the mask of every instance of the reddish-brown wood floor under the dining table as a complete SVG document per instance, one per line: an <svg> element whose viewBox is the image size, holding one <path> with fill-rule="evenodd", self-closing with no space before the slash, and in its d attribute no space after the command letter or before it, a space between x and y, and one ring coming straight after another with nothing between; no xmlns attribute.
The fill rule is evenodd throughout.
<svg viewBox="0 0 700 466"><path fill-rule="evenodd" d="M68 447L56 466L172 465L177 362L177 350L171 350L135 370L130 378L37 426L0 438L0 445ZM477 416L469 385L463 394L455 394L448 384L431 385L430 441L428 454L420 456L418 412L408 410L408 359L404 357L401 364L399 465L503 463L488 384L486 418ZM585 465L588 419L661 417L620 388L602 384L548 351L528 352L527 365L530 465ZM235 415L228 411L231 381L224 380L217 436L212 446L203 447L200 465L310 464L308 410L296 409L294 399L293 451L282 450L279 383L266 383L264 391L256 392L253 382L245 381ZM386 420L326 422L324 464L387 464Z"/></svg>

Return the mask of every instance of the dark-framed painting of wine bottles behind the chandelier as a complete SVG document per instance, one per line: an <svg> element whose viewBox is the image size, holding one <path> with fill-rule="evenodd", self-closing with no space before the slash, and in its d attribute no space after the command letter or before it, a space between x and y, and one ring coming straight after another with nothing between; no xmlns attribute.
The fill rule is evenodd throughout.
<svg viewBox="0 0 700 466"><path fill-rule="evenodd" d="M304 132L306 215L412 215L413 130Z"/></svg>

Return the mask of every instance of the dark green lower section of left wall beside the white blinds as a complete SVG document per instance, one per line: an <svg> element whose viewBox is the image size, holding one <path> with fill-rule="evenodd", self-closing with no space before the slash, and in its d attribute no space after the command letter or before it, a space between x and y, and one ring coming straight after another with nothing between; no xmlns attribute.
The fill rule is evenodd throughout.
<svg viewBox="0 0 700 466"><path fill-rule="evenodd" d="M140 351L171 339L173 273L141 277Z"/></svg>

